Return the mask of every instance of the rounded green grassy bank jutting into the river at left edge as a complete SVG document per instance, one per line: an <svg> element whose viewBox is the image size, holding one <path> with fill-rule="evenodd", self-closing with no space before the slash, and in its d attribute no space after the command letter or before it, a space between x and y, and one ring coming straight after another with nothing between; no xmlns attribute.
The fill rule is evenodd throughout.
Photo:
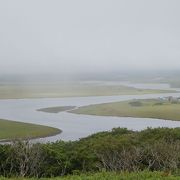
<svg viewBox="0 0 180 180"><path fill-rule="evenodd" d="M0 119L0 140L32 139L59 134L61 130L29 123Z"/></svg>

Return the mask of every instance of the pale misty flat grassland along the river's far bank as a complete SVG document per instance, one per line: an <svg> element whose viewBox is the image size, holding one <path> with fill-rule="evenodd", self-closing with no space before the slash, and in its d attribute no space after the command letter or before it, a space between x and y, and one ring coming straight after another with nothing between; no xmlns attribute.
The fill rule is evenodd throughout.
<svg viewBox="0 0 180 180"><path fill-rule="evenodd" d="M137 89L102 84L0 84L0 99L58 98L171 93L176 91Z"/></svg>

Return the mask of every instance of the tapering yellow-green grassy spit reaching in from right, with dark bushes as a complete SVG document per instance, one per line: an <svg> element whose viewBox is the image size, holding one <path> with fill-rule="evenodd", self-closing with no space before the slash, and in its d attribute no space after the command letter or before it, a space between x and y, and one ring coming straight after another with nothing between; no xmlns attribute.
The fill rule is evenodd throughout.
<svg viewBox="0 0 180 180"><path fill-rule="evenodd" d="M80 107L76 114L180 120L180 103L159 99L133 100Z"/></svg>

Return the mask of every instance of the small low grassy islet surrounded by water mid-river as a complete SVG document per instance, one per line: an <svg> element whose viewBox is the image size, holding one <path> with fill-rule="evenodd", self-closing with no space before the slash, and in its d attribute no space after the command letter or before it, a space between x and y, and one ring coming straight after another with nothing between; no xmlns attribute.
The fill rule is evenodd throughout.
<svg viewBox="0 0 180 180"><path fill-rule="evenodd" d="M37 109L37 111L42 111L42 112L47 112L47 113L59 113L62 111L74 109L75 107L76 106L57 106L57 107Z"/></svg>

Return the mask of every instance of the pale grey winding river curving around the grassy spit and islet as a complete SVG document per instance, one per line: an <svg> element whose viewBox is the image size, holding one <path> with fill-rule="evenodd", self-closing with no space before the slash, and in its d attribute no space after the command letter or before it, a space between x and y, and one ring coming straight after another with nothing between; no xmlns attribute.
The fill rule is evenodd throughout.
<svg viewBox="0 0 180 180"><path fill-rule="evenodd" d="M152 88L154 89L155 87ZM159 87L157 86L157 89L158 88ZM90 116L72 114L68 112L44 113L37 111L37 109L40 108L53 106L80 107L91 104L117 102L130 99L157 98L165 96L179 97L180 92L148 95L7 99L0 100L0 118L47 125L59 128L63 131L61 134L56 136L38 139L38 141L43 142L56 141L59 139L65 141L77 140L96 132L111 130L114 127L126 127L132 130L142 130L147 127L180 127L180 121L178 122L150 118Z"/></svg>

